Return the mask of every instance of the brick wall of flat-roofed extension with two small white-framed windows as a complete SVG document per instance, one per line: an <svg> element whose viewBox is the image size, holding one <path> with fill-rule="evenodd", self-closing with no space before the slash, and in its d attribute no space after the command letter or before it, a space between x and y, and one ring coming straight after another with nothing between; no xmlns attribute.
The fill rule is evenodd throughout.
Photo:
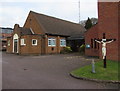
<svg viewBox="0 0 120 91"><path fill-rule="evenodd" d="M25 39L26 45L21 45L20 43L19 54L41 54L41 36L25 35L21 36L21 39L22 38ZM32 39L37 40L37 45L32 45Z"/></svg>

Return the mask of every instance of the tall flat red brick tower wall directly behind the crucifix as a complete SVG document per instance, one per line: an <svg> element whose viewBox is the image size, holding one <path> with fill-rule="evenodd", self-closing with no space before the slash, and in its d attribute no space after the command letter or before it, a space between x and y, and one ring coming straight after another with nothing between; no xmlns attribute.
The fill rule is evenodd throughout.
<svg viewBox="0 0 120 91"><path fill-rule="evenodd" d="M118 60L118 3L99 2L99 38L106 33L106 38L117 39L115 42L107 44L107 59ZM101 58L101 51L99 56Z"/></svg>

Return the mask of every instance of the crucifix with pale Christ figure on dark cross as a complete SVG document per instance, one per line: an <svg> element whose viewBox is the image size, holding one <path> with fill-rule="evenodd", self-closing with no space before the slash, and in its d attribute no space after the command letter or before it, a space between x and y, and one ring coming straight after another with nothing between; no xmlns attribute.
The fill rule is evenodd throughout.
<svg viewBox="0 0 120 91"><path fill-rule="evenodd" d="M103 33L103 39L95 40L97 43L102 44L102 58L103 58L103 61L104 61L104 68L106 68L106 44L111 43L115 40L116 39L106 39L105 38L105 33Z"/></svg>

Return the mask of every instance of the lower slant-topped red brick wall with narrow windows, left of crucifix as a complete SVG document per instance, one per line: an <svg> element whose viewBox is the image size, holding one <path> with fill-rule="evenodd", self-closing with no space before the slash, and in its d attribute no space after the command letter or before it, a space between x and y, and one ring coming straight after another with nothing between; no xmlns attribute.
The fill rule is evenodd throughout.
<svg viewBox="0 0 120 91"><path fill-rule="evenodd" d="M98 38L98 24L93 26L91 29L89 29L86 33L85 33L85 44L86 45L90 45L90 47L92 46L91 45L91 39L94 39L94 38ZM97 43L98 45L98 43ZM98 51L98 46L97 48L95 49L94 48L94 44L93 44L93 48L85 48L85 54L87 56L99 56L99 51Z"/></svg>

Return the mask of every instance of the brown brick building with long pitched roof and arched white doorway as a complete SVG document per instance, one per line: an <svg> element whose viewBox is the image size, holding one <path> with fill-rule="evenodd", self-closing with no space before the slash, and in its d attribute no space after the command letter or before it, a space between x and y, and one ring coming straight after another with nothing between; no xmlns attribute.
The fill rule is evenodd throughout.
<svg viewBox="0 0 120 91"><path fill-rule="evenodd" d="M66 45L80 46L85 29L80 24L30 11L23 27L15 24L8 38L8 53L60 53Z"/></svg>

